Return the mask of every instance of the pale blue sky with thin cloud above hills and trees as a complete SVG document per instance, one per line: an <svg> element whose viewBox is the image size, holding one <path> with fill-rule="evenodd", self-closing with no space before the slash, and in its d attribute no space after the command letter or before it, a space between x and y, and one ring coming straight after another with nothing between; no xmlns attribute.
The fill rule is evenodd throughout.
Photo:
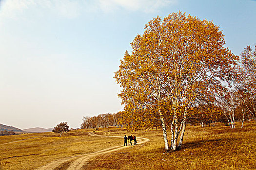
<svg viewBox="0 0 256 170"><path fill-rule="evenodd" d="M236 55L256 43L255 0L0 0L0 123L77 128L120 111L119 60L149 20L179 10L213 20Z"/></svg>

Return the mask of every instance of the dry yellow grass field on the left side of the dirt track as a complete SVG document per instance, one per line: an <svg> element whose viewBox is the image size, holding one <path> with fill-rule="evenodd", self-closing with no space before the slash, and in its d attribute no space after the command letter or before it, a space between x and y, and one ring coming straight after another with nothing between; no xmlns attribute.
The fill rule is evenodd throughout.
<svg viewBox="0 0 256 170"><path fill-rule="evenodd" d="M88 136L86 131L75 130L61 137L53 132L1 136L0 170L34 170L54 160L122 143L112 137L106 140L106 137Z"/></svg>

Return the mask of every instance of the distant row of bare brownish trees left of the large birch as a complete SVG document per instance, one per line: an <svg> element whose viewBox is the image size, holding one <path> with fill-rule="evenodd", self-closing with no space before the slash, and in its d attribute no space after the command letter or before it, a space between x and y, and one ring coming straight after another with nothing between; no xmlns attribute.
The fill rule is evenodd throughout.
<svg viewBox="0 0 256 170"><path fill-rule="evenodd" d="M98 116L93 117L83 117L83 122L80 126L81 129L89 128L108 128L109 126L123 127L121 112L118 113L106 113L99 114Z"/></svg>

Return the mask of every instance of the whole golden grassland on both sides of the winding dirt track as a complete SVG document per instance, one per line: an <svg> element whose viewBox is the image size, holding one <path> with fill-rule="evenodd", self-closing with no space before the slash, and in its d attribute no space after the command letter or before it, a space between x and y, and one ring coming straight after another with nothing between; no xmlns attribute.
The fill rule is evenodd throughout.
<svg viewBox="0 0 256 170"><path fill-rule="evenodd" d="M58 134L37 133L0 137L0 170L34 170L54 160L123 144L115 137L89 136L89 130ZM104 128L98 135L136 135L150 141L99 155L84 170L256 170L256 122L243 129L187 126L180 151L166 153L161 130L127 132ZM169 136L170 138L170 136ZM139 144L139 143L138 143Z"/></svg>

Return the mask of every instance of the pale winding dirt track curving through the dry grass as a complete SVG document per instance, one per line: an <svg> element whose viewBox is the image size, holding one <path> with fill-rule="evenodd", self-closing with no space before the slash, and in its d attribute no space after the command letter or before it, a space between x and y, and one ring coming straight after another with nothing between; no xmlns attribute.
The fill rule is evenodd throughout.
<svg viewBox="0 0 256 170"><path fill-rule="evenodd" d="M93 132L88 132L88 135L90 136L101 136L94 134ZM123 136L103 136L103 137L118 137L123 138ZM144 137L137 137L138 144L142 144L145 142L148 142L149 139ZM133 147L135 145L129 146ZM76 156L71 156L63 159L58 159L56 161L53 161L43 167L40 167L37 170L81 170L83 166L85 166L92 157L98 156L100 154L110 153L114 151L118 151L120 149L123 149L123 145L120 146L114 146L107 149L103 149L100 151L97 151L95 153L87 153L87 154L81 154Z"/></svg>

